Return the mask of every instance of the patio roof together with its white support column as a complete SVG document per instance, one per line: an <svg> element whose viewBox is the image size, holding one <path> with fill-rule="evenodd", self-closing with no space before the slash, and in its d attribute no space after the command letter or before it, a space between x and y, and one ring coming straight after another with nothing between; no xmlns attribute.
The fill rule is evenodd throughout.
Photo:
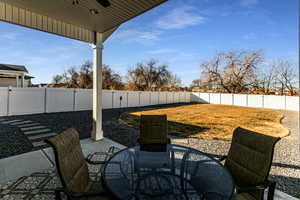
<svg viewBox="0 0 300 200"><path fill-rule="evenodd" d="M0 0L0 20L86 42L93 49L93 131L102 131L102 51L107 38L124 22L166 0Z"/></svg>

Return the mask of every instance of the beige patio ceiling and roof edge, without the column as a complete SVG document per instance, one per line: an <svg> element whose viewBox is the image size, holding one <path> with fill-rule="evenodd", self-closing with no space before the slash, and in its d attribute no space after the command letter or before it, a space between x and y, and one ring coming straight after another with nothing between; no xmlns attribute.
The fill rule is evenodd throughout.
<svg viewBox="0 0 300 200"><path fill-rule="evenodd" d="M166 0L0 0L0 20L93 43L105 40L122 23ZM78 3L77 3L78 2Z"/></svg>

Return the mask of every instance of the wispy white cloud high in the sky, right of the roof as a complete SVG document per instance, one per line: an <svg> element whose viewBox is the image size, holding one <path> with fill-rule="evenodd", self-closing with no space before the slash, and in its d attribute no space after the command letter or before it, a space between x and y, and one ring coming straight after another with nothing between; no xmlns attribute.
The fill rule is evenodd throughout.
<svg viewBox="0 0 300 200"><path fill-rule="evenodd" d="M161 29L181 29L205 22L204 17L193 14L192 11L193 7L190 6L175 8L158 19L156 25Z"/></svg>

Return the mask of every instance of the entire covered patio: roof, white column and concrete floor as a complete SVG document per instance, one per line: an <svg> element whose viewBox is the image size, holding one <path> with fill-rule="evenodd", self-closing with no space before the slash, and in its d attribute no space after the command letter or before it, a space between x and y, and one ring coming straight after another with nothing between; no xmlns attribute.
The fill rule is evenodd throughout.
<svg viewBox="0 0 300 200"><path fill-rule="evenodd" d="M0 20L86 42L93 49L93 131L81 141L85 155L125 146L104 138L102 129L102 51L104 42L124 22L166 0L0 0ZM3 199L54 199L60 185L52 149L2 159L0 197ZM22 167L19 166L22 164ZM92 178L99 168L89 166ZM20 178L21 177L21 178ZM280 191L274 199L294 199Z"/></svg>

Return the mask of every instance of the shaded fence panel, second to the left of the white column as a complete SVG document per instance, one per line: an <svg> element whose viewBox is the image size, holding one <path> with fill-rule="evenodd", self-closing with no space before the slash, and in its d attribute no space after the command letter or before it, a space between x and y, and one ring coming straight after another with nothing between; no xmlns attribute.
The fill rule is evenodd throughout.
<svg viewBox="0 0 300 200"><path fill-rule="evenodd" d="M47 88L46 112L69 112L74 110L74 89Z"/></svg>

